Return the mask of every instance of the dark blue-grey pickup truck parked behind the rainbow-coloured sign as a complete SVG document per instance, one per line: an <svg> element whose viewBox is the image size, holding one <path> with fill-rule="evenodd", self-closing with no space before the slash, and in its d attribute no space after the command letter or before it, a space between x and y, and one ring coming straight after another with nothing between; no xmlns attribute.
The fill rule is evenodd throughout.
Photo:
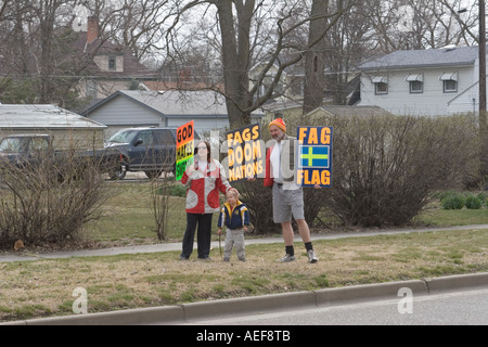
<svg viewBox="0 0 488 347"><path fill-rule="evenodd" d="M121 180L127 171L144 171L151 179L163 171L174 172L176 137L176 128L130 128L116 132L105 147L117 149L124 160L112 179ZM197 133L195 139L200 139Z"/></svg>

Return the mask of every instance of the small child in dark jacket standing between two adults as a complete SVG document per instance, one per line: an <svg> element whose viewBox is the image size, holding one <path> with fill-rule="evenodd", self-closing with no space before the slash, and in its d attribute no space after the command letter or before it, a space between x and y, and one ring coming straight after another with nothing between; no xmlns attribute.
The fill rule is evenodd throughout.
<svg viewBox="0 0 488 347"><path fill-rule="evenodd" d="M246 205L239 201L239 192L231 189L227 192L227 203L220 210L219 216L219 231L222 234L222 227L227 227L226 246L223 253L223 261L229 261L232 247L235 245L237 258L241 261L246 261L244 252L244 232L247 232L249 226L249 211Z"/></svg>

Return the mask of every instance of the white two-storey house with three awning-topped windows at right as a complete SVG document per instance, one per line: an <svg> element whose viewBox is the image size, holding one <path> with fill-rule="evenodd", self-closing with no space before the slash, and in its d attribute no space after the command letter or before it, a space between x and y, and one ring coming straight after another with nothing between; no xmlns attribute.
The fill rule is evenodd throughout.
<svg viewBox="0 0 488 347"><path fill-rule="evenodd" d="M357 105L397 115L449 115L478 110L478 47L397 51L367 62Z"/></svg>

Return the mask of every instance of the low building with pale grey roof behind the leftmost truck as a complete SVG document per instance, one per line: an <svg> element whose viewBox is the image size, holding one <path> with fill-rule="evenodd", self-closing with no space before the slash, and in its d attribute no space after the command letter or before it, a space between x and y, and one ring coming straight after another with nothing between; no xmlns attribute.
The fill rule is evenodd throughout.
<svg viewBox="0 0 488 347"><path fill-rule="evenodd" d="M106 126L54 105L0 105L0 140L11 134L50 134L59 150L103 147Z"/></svg>

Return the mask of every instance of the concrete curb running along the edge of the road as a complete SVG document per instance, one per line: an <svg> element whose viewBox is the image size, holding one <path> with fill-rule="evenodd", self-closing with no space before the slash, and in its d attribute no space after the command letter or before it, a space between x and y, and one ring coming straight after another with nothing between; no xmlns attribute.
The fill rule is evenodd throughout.
<svg viewBox="0 0 488 347"><path fill-rule="evenodd" d="M397 299L401 288L413 296L488 286L488 272L444 278L367 284L311 292L285 293L236 299L183 304L104 313L55 317L0 325L138 325L181 324L204 318L251 314L281 309L312 308L373 299Z"/></svg>

